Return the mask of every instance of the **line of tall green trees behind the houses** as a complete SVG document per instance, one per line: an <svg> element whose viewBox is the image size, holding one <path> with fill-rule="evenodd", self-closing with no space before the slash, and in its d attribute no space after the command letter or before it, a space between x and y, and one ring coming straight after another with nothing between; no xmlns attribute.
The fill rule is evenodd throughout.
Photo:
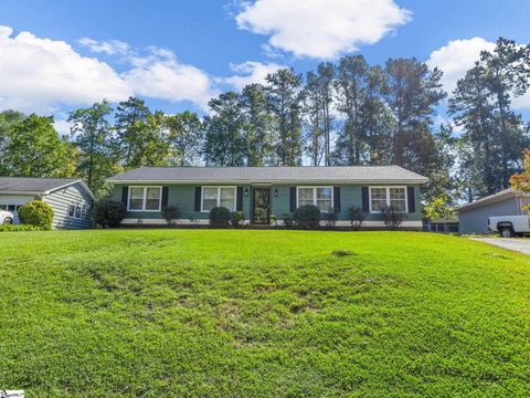
<svg viewBox="0 0 530 398"><path fill-rule="evenodd" d="M135 97L116 108L102 101L70 114L67 137L52 117L8 111L0 114L0 174L78 176L103 196L106 177L140 166L393 164L430 178L426 202L507 188L530 146L529 125L512 108L528 90L530 46L500 38L451 95L442 75L416 59L372 65L348 55L222 93L203 117L152 112ZM436 125L445 106L453 123Z"/></svg>

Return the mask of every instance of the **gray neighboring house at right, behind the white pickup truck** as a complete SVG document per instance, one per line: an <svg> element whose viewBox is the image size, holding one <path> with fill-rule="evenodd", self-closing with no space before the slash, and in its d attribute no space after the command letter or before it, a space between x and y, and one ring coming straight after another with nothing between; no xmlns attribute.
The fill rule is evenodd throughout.
<svg viewBox="0 0 530 398"><path fill-rule="evenodd" d="M505 189L458 208L460 233L488 232L488 217L520 216L521 206L530 203L530 195Z"/></svg>

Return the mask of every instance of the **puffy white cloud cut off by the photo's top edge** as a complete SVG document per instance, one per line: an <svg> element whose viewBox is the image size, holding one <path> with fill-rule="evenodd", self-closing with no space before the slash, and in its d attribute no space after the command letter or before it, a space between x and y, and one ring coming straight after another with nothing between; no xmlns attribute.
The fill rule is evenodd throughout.
<svg viewBox="0 0 530 398"><path fill-rule="evenodd" d="M240 29L268 35L272 48L318 59L373 44L410 19L393 0L256 0L235 17Z"/></svg>

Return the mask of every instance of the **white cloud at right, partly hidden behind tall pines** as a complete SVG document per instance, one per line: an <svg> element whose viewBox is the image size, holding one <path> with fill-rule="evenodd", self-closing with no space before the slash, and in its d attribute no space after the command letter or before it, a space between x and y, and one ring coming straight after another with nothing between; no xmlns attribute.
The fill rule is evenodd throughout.
<svg viewBox="0 0 530 398"><path fill-rule="evenodd" d="M480 59L481 51L492 51L495 43L483 38L452 40L439 50L433 51L426 61L430 67L437 66L444 72L442 83L449 94L459 78ZM530 92L513 98L513 108L530 107Z"/></svg>

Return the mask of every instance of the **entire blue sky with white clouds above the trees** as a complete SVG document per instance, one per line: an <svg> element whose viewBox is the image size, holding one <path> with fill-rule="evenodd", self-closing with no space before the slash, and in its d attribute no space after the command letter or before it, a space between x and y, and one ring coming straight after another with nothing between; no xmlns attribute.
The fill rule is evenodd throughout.
<svg viewBox="0 0 530 398"><path fill-rule="evenodd" d="M451 90L499 35L528 43L528 15L524 0L3 0L0 107L61 121L130 94L204 112L210 95L275 67L306 72L346 53L428 61Z"/></svg>

